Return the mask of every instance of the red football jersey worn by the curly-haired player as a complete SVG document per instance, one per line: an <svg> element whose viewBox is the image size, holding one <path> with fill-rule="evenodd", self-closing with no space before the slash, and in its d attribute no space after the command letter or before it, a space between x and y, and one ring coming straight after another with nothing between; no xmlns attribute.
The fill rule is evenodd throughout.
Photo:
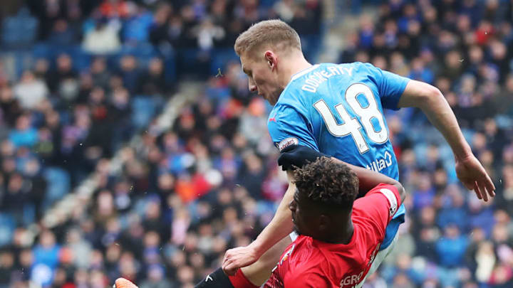
<svg viewBox="0 0 513 288"><path fill-rule="evenodd" d="M299 235L286 248L264 287L355 287L371 268L385 228L400 204L394 186L376 186L353 203L351 242L332 244Z"/></svg>

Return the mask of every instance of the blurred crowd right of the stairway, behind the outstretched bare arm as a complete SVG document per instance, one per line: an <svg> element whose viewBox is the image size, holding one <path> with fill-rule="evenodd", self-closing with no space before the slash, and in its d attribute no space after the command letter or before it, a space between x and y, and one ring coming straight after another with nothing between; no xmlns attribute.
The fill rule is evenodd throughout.
<svg viewBox="0 0 513 288"><path fill-rule="evenodd" d="M362 61L438 87L497 186L478 201L419 110L388 113L410 197L398 247L366 287L512 287L513 4L390 1L360 16L340 62Z"/></svg>

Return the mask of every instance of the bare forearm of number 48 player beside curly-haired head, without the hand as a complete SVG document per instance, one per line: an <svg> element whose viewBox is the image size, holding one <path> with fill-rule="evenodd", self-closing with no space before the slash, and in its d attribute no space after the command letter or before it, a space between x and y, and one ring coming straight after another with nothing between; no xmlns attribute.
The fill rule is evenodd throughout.
<svg viewBox="0 0 513 288"><path fill-rule="evenodd" d="M294 230L292 223L292 214L289 210L289 203L294 198L296 186L291 183L291 172L289 174L289 188L285 192L284 198L281 199L278 209L271 220L271 223L262 230L260 235L257 237L252 246L257 251L258 255L264 254L266 250L269 250L274 244L283 239L286 235L289 235Z"/></svg>

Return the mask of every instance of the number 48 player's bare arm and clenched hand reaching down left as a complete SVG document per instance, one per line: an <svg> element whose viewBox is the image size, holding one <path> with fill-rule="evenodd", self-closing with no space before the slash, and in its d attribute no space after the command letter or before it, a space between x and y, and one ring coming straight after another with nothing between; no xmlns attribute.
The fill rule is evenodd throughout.
<svg viewBox="0 0 513 288"><path fill-rule="evenodd" d="M250 245L230 249L224 254L221 267L226 274L234 275L237 269L257 262L264 252L294 230L289 203L294 198L296 185L292 183L291 171L287 172L287 177L289 178L289 188L287 188L284 198L281 199L271 223L262 230L257 239Z"/></svg>

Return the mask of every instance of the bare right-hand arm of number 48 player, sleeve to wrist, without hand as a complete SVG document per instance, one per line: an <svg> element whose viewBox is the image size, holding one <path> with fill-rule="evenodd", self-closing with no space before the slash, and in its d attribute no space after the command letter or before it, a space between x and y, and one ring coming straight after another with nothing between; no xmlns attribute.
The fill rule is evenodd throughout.
<svg viewBox="0 0 513 288"><path fill-rule="evenodd" d="M457 159L465 159L472 154L469 144L463 137L454 112L436 87L424 82L410 80L399 101L400 107L418 107L426 114L447 143Z"/></svg>

